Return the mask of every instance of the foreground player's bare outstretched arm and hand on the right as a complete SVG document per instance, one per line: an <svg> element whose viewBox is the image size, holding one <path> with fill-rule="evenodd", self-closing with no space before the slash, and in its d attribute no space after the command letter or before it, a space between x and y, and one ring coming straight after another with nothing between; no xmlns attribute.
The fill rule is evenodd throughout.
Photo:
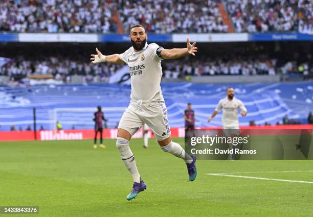
<svg viewBox="0 0 313 217"><path fill-rule="evenodd" d="M174 48L171 50L163 49L161 51L161 56L163 59L177 59L180 57L187 56L189 54L195 56L198 47L195 46L195 42L190 44L189 38L187 38L187 47L186 48Z"/></svg>

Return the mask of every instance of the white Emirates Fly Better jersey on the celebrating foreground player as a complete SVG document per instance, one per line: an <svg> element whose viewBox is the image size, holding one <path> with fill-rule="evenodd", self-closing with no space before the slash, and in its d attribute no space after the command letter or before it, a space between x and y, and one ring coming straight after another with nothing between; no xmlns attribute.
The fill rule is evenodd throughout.
<svg viewBox="0 0 313 217"><path fill-rule="evenodd" d="M162 58L157 50L162 50L156 43L144 46L141 51L135 52L131 46L120 59L127 63L131 81L131 100L149 100L164 102L161 91Z"/></svg>

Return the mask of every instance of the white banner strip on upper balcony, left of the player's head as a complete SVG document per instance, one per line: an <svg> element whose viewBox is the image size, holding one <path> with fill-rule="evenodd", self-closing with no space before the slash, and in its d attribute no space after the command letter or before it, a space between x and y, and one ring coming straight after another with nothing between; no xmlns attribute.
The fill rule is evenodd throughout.
<svg viewBox="0 0 313 217"><path fill-rule="evenodd" d="M20 33L19 42L98 42L97 34Z"/></svg>

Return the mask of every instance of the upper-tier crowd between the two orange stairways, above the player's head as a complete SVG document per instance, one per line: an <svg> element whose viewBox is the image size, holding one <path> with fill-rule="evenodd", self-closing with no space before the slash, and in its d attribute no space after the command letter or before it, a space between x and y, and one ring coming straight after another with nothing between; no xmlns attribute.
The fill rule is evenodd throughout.
<svg viewBox="0 0 313 217"><path fill-rule="evenodd" d="M215 0L120 0L118 8L125 33L136 23L154 33L228 32Z"/></svg>

